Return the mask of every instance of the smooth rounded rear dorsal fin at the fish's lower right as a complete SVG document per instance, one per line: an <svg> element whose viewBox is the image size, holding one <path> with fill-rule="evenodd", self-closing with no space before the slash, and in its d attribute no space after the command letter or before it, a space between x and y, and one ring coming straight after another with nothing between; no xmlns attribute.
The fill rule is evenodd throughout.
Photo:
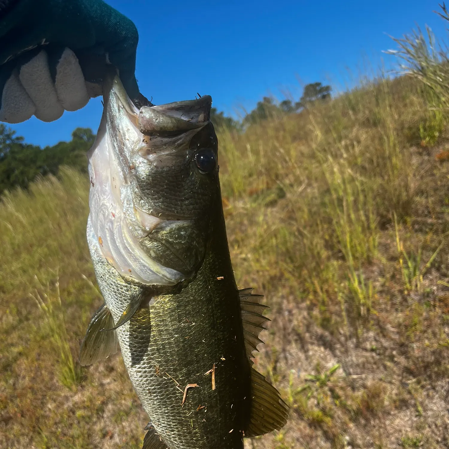
<svg viewBox="0 0 449 449"><path fill-rule="evenodd" d="M281 429L288 418L288 405L264 376L251 368L251 412L245 437Z"/></svg>

